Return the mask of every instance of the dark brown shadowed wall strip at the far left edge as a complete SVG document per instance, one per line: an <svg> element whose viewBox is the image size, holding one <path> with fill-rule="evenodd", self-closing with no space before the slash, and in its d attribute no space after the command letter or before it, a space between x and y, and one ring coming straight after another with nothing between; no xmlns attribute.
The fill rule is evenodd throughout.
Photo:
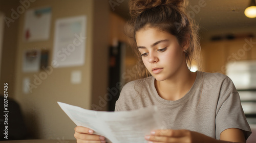
<svg viewBox="0 0 256 143"><path fill-rule="evenodd" d="M18 6L18 1L0 1L0 11L7 17L11 17L11 9ZM9 23L9 27L4 23L4 37L2 43L1 77L0 84L8 83L8 96L14 97L15 90L15 55L17 50L17 29L19 18ZM4 93L4 88L0 88L0 93Z"/></svg>

